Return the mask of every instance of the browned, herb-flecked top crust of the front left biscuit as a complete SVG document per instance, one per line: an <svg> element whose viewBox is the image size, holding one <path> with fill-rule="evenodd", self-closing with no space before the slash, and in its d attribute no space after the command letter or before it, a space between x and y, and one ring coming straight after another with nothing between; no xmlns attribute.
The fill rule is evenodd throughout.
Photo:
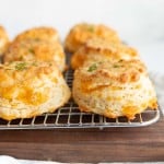
<svg viewBox="0 0 164 164"><path fill-rule="evenodd" d="M13 61L10 63L0 65L0 83L7 82L4 77L10 77L16 80L16 78L31 80L34 77L40 74L57 73L58 68L54 62L38 62L38 61ZM19 79L20 79L19 78ZM19 80L17 79L17 80Z"/></svg>

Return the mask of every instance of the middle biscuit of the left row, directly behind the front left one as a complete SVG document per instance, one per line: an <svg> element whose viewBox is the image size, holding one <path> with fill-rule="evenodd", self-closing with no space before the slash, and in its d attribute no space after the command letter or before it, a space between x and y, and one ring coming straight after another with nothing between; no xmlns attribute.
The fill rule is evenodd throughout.
<svg viewBox="0 0 164 164"><path fill-rule="evenodd" d="M59 43L47 40L25 39L13 42L4 54L4 62L10 61L52 61L55 56L65 58L63 49Z"/></svg>

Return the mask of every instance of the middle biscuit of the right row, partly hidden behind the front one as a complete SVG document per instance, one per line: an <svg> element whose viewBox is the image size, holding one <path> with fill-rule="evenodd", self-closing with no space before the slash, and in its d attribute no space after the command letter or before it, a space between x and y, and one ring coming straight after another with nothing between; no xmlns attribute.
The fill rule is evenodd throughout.
<svg viewBox="0 0 164 164"><path fill-rule="evenodd" d="M119 61L139 59L137 50L124 44L112 44L105 39L91 38L71 58L72 69L78 69L84 62L91 61Z"/></svg>

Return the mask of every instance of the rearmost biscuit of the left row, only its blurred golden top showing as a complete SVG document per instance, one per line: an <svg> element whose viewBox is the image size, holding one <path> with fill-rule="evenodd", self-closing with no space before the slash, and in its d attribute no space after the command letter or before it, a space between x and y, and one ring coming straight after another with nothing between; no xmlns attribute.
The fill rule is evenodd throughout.
<svg viewBox="0 0 164 164"><path fill-rule="evenodd" d="M44 39L49 42L58 42L59 35L57 30L52 27L34 27L27 30L15 37L15 40L23 39Z"/></svg>

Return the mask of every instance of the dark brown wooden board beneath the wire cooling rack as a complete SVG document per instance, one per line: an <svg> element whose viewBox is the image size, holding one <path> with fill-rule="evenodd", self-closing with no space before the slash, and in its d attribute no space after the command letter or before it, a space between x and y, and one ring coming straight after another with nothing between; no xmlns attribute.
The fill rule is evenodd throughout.
<svg viewBox="0 0 164 164"><path fill-rule="evenodd" d="M142 128L0 131L0 154L59 162L164 161L164 119Z"/></svg>

